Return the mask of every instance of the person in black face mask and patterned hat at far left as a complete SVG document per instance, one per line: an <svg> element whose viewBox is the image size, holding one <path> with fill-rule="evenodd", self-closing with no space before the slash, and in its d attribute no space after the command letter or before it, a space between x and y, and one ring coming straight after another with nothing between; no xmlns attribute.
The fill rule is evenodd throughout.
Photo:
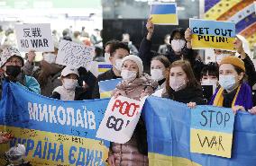
<svg viewBox="0 0 256 166"><path fill-rule="evenodd" d="M36 79L23 73L23 65L23 57L21 57L17 48L6 47L3 49L0 66L5 71L5 74L2 75L0 91L2 91L3 81L6 80L23 85L23 87L32 92L41 92L40 85Z"/></svg>

